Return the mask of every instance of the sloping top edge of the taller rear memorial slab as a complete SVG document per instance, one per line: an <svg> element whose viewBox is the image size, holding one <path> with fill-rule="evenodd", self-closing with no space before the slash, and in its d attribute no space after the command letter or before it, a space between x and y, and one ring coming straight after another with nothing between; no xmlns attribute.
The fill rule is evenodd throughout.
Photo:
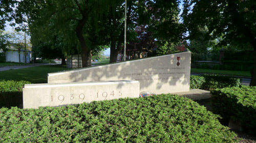
<svg viewBox="0 0 256 143"><path fill-rule="evenodd" d="M148 60L148 59L154 59L154 58L159 58L159 57L166 57L166 56L170 56L170 55L178 55L178 54L183 54L183 53L191 53L191 52L190 51L186 51L186 52L179 52L179 53L162 55L162 56L156 56L156 57L148 57L148 58L136 59L136 60L131 60L131 61L122 61L122 62L111 63L111 64L107 64L107 65L100 65L100 66L94 66L94 67L90 66L90 67L84 67L84 68L79 68L79 69L71 69L71 70L66 70L66 71L58 71L58 72L55 72L55 73L49 73L48 77L56 76L56 75L61 75L63 73L74 73L74 72L77 72L77 71L86 70L88 68L93 69L93 68L99 68L99 67L104 67L104 66L110 66L110 65L113 65L113 64L124 64L124 63L136 62L138 60Z"/></svg>

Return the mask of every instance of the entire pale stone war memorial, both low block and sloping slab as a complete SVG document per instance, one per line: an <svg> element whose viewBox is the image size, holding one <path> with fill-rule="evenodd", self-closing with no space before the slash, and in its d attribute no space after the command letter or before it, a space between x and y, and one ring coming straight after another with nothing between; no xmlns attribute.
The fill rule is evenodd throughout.
<svg viewBox="0 0 256 143"><path fill-rule="evenodd" d="M138 98L189 91L190 52L48 74L47 84L25 85L24 108Z"/></svg>

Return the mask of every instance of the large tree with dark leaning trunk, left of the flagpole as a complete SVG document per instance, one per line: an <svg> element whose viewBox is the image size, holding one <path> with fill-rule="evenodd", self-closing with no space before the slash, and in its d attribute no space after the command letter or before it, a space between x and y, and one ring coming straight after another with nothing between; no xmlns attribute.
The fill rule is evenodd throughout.
<svg viewBox="0 0 256 143"><path fill-rule="evenodd" d="M82 67L91 66L91 56L94 50L94 37L98 35L98 21L109 7L115 5L119 0L69 0L69 1L22 1L21 9L29 12L29 25L33 29L47 31L51 34L53 30L61 35L66 45L77 44L81 51ZM27 4L28 3L28 4ZM25 6L31 6L26 8ZM38 8L37 8L38 7ZM35 9L36 8L36 9ZM33 12L36 11L36 15ZM39 32L39 31L38 31ZM43 32L44 33L44 32Z"/></svg>

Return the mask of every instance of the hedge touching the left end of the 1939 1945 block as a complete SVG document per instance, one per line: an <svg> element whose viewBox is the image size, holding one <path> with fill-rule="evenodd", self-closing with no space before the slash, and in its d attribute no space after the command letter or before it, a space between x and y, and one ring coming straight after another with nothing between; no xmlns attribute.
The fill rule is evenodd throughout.
<svg viewBox="0 0 256 143"><path fill-rule="evenodd" d="M31 84L28 81L0 81L0 108L14 107L23 103L22 90L25 84Z"/></svg>

